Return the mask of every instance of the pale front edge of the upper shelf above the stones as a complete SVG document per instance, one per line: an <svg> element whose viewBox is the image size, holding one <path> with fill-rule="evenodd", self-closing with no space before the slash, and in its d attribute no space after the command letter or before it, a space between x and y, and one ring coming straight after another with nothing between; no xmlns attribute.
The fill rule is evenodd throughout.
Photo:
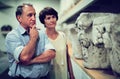
<svg viewBox="0 0 120 79"><path fill-rule="evenodd" d="M80 0L74 7L72 7L69 11L65 12L63 15L60 15L59 23L64 23L66 20L74 16L79 11L83 10L87 6L89 6L91 3L93 3L94 0Z"/></svg>

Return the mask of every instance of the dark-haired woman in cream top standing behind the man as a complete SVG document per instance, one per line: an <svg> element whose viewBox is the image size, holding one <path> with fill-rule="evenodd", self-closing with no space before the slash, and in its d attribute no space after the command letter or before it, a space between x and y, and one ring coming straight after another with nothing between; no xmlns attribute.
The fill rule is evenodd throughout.
<svg viewBox="0 0 120 79"><path fill-rule="evenodd" d="M70 45L68 45L65 34L55 28L58 20L57 11L51 7L46 7L40 11L39 20L46 27L45 32L56 49L56 57L53 59L53 67L50 73L52 74L51 79L74 79L71 61L67 52Z"/></svg>

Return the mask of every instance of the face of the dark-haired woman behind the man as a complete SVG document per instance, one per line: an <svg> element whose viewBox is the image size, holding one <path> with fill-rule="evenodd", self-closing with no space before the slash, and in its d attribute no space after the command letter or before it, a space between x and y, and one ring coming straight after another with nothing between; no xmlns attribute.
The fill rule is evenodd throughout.
<svg viewBox="0 0 120 79"><path fill-rule="evenodd" d="M46 15L44 19L44 24L46 28L55 28L57 22L57 18L55 15Z"/></svg>

